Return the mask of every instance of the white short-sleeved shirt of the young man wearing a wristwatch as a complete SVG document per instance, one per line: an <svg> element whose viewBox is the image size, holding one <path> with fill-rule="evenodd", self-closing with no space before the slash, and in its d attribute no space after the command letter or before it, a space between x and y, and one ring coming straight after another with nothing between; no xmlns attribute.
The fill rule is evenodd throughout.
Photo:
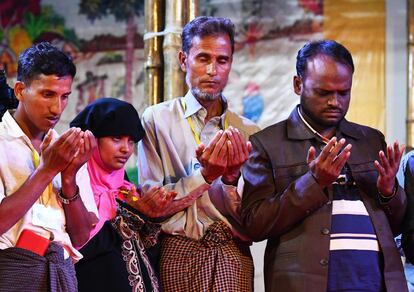
<svg viewBox="0 0 414 292"><path fill-rule="evenodd" d="M58 134L53 131L53 139L57 137ZM34 172L33 150L34 147L29 138L11 114L6 112L0 123L0 202L17 191ZM78 171L76 183L86 209L98 216L86 164ZM60 188L59 174L53 179L53 194L46 202L48 208L44 209L39 199L23 218L0 236L0 249L15 246L22 230L29 229L46 238L53 233L53 240L63 246L65 257L71 256L74 261L82 258L82 255L72 246L69 234L66 232L65 213L61 202L57 200L57 192ZM39 206L40 208L37 208ZM40 218L39 216L41 219L37 220L35 217Z"/></svg>

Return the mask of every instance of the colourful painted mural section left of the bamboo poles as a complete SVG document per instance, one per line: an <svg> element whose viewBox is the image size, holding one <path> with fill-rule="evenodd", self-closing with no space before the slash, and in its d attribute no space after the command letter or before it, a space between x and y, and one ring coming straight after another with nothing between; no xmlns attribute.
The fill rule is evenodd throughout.
<svg viewBox="0 0 414 292"><path fill-rule="evenodd" d="M49 41L69 53L77 75L68 108L58 128L86 104L114 96L143 108L143 1L14 0L0 2L0 64L9 84L19 54Z"/></svg>

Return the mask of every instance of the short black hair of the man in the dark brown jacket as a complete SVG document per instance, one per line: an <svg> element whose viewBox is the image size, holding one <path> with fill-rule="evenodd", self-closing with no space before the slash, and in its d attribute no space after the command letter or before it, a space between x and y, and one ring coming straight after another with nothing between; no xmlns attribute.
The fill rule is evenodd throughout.
<svg viewBox="0 0 414 292"><path fill-rule="evenodd" d="M300 78L304 78L306 75L308 60L317 55L329 56L336 62L348 66L354 73L354 61L347 48L333 40L319 40L306 43L299 50L296 56L296 74Z"/></svg>

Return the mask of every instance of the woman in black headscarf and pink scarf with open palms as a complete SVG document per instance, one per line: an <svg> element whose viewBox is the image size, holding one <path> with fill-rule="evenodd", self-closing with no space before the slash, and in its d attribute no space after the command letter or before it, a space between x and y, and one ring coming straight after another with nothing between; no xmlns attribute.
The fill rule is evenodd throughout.
<svg viewBox="0 0 414 292"><path fill-rule="evenodd" d="M176 193L162 187L142 195L124 179L125 163L145 135L131 104L98 99L70 126L90 130L98 145L87 167L100 218L75 266L79 291L160 291L149 256L160 226L147 218L172 215L196 198L174 200Z"/></svg>

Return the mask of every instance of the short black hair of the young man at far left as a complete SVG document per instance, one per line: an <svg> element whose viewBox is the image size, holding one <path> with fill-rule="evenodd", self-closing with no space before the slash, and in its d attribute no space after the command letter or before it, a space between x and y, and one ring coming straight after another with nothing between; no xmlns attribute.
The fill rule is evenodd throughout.
<svg viewBox="0 0 414 292"><path fill-rule="evenodd" d="M17 80L30 84L40 74L73 78L76 67L72 59L63 51L48 42L41 42L20 54Z"/></svg>

